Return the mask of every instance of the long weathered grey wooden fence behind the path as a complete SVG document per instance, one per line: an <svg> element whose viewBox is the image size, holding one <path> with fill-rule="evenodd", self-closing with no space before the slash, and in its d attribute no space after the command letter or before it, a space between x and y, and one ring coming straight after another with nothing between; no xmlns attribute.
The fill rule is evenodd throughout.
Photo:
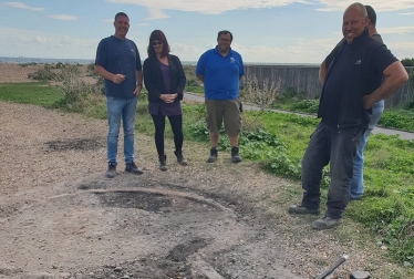
<svg viewBox="0 0 414 279"><path fill-rule="evenodd" d="M408 72L414 71L413 66L406 66ZM322 86L319 83L319 66L301 65L245 65L246 78L256 76L259 84L262 80L269 79L275 83L280 78L281 92L292 89L294 92L303 92L306 99L315 99L321 94ZM411 83L412 82L412 83ZM401 89L385 100L385 107L391 108L400 104L414 101L413 81L406 82Z"/></svg>

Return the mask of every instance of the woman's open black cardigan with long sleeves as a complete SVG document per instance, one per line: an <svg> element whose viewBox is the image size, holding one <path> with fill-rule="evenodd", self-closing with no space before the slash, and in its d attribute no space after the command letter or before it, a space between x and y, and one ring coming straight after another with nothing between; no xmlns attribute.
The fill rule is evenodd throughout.
<svg viewBox="0 0 414 279"><path fill-rule="evenodd" d="M178 93L178 96L175 99L175 102L183 100L183 91L186 85L186 75L182 62L176 55L168 54L168 64L169 64L169 81L170 81L170 91L166 92L164 86L163 73L159 69L158 59L147 58L144 61L144 84L148 91L148 101L149 102L163 102L159 99L161 94L166 93Z"/></svg>

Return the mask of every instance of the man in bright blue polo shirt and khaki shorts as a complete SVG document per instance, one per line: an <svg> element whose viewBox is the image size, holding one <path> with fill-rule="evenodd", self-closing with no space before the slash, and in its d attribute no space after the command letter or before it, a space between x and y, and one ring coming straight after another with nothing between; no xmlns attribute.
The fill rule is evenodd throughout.
<svg viewBox="0 0 414 279"><path fill-rule="evenodd" d="M232 34L219 31L215 49L206 51L198 60L196 75L204 83L206 122L210 133L208 163L217 161L217 144L221 123L231 145L231 162L241 162L238 136L241 130L237 102L239 80L245 75L241 55L231 50Z"/></svg>

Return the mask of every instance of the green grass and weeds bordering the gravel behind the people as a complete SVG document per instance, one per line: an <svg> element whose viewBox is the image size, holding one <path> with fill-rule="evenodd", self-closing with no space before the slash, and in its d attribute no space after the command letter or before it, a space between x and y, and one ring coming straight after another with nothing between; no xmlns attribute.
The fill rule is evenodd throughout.
<svg viewBox="0 0 414 279"><path fill-rule="evenodd" d="M105 99L99 86L80 81L71 83L73 86L68 84L68 80L60 86L48 86L44 82L0 84L0 100L82 113L90 117L106 117ZM186 141L207 145L204 106L184 103L183 111ZM269 173L299 180L300 159L318 120L275 112L261 113L256 118L259 112L244 112L244 122L249 125L245 125L248 128L240 135L241 155ZM256 120L253 125L251 120ZM145 91L138 101L136 130L148 135L154 133L147 114ZM168 125L166 134L172 135ZM229 148L226 137L220 138L219 148ZM346 218L366 226L372 234L369 237L387 246L390 259L401 264L414 262L413 163L414 142L399 140L396 136L371 135L365 149L365 194L361 200L352 202L345 210ZM329 184L328 174L327 168L322 185L323 198ZM300 190L284 190L293 203L300 200Z"/></svg>

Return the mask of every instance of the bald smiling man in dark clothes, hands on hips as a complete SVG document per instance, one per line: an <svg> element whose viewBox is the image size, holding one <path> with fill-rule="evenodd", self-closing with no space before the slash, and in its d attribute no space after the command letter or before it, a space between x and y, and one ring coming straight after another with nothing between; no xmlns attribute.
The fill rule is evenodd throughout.
<svg viewBox="0 0 414 279"><path fill-rule="evenodd" d="M323 84L318 112L321 122L302 159L302 202L288 209L291 214L319 214L322 169L330 164L327 211L312 223L315 229L341 224L349 202L353 157L370 122L371 107L408 80L401 62L385 44L370 37L365 25L366 8L358 2L348 7L343 13L344 40L322 62L319 72Z"/></svg>

